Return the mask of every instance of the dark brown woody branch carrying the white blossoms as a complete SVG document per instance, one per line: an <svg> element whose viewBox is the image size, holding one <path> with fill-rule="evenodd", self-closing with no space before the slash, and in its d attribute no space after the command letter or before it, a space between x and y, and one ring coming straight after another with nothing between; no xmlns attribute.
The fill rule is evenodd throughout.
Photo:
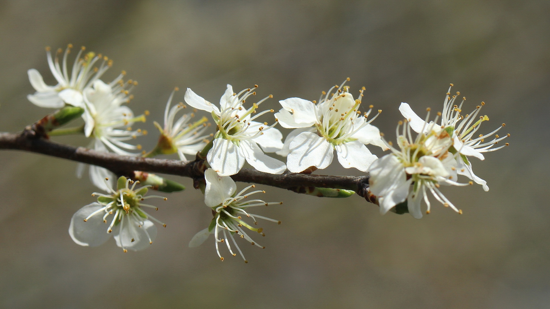
<svg viewBox="0 0 550 309"><path fill-rule="evenodd" d="M48 156L69 159L71 161L93 164L117 174L130 176L135 170L149 173L162 173L204 178L204 161L179 161L173 159L155 159L144 157L120 156L111 152L98 152L84 147L73 147L43 139L41 134L27 128L23 133L0 133L0 149L23 150L42 153ZM367 201L376 203L376 197L368 192L368 176L331 176L284 173L279 175L262 173L254 169L243 168L231 176L235 181L256 183L293 190L295 187L325 187L353 190Z"/></svg>

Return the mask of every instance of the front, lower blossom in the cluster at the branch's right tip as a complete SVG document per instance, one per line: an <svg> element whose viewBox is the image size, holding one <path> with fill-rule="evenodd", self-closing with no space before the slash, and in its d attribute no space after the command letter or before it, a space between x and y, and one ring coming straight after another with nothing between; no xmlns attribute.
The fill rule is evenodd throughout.
<svg viewBox="0 0 550 309"><path fill-rule="evenodd" d="M401 125L403 131L399 134ZM442 184L464 186L471 184L471 181L469 184L456 182L455 156L459 154L448 151L453 145L453 140L447 131L433 130L436 127L434 123L425 124L425 127L421 128L421 133L413 140L409 122L399 122L399 149L388 143L392 153L371 164L368 169L369 189L377 196L382 214L406 200L410 214L417 219L422 218L422 200L427 205L426 213L430 213L431 205L426 195L427 191L445 207L450 206L454 211L462 213L443 195L439 187Z"/></svg>

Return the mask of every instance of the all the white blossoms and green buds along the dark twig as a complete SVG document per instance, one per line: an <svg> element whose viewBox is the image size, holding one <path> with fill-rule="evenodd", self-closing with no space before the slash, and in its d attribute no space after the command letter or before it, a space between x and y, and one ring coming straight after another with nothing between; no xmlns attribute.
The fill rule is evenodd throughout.
<svg viewBox="0 0 550 309"><path fill-rule="evenodd" d="M29 80L36 92L27 98L40 107L62 108L59 114L68 108L76 110L78 114L72 112L74 117L81 115L84 125L56 129L57 133L50 127L44 131L52 136L81 133L92 140L89 147L96 151L138 156L141 146L129 144L128 141L147 132L134 130L131 126L145 122L145 116L149 113L145 111L135 116L125 105L133 98L130 91L138 83L133 80L123 81L124 71L113 81L104 82L101 78L112 66L112 60L101 54L85 52L84 47L76 55L72 68L69 68L71 50L72 45L69 45L64 52L59 49L52 57L47 48L48 65L57 85L46 85L42 75L30 69ZM155 157L177 153L181 161L186 161L186 156L194 156L194 176L198 175L195 177L195 187L204 191L205 204L210 208L213 218L206 229L191 239L190 247L199 246L213 234L216 252L222 261L224 258L219 246L224 243L231 255L236 256L238 252L248 262L235 238L242 238L263 248L252 238L254 233L265 236L262 228L255 227L257 219L281 223L249 212L250 207L278 205L282 202L249 199L251 195L265 193L263 190L246 192L255 185L237 191L231 176L238 174L245 162L263 173L282 174L287 169L291 173L311 173L315 169L327 168L334 159L335 151L342 167L369 173L368 190L371 195L368 198L376 197L372 198L377 201L382 214L406 203L409 213L415 218L422 217L422 201L427 206L425 213L430 213L430 196L443 206L462 213L445 197L442 185L466 186L475 182L482 185L485 191L489 190L487 182L474 174L469 157L485 159L483 153L507 146L508 143L502 146L497 144L510 135L500 137L496 134L504 124L488 134L479 134L482 123L489 120L487 115L481 114L484 102L471 113L463 114L466 98L463 97L459 104L455 103L460 93L451 96L449 87L442 112L438 112L433 120L430 120L430 109L426 118L422 119L412 111L409 104L401 103L399 111L405 119L397 126L397 144L394 146L392 142L384 140L378 128L371 124L382 111L376 112L372 105L368 109L361 108L364 105L365 87L354 97L350 87L345 85L347 81L349 78L341 85L323 91L318 101L298 97L281 100L281 109L277 113L273 109L259 109L260 104L273 97L271 95L254 100L251 104L246 102L252 101L251 98L256 95L257 85L237 93L228 84L219 106L188 88L184 101L194 111L178 116L187 106L183 102L172 104L174 93L178 91L175 88L166 103L163 125L154 122L160 131L156 147L149 152L142 151L141 155ZM198 109L211 114L216 124L213 133L207 131L211 128L207 117L195 118ZM260 122L259 117L270 113L274 113L274 123ZM65 122L58 123L58 126L63 124ZM281 131L274 128L276 124L293 129L284 142ZM378 158L367 145L389 150L390 153ZM267 153L286 157L286 162ZM79 174L83 168L83 164L79 165ZM204 180L200 176L203 170ZM137 251L145 249L155 240L157 229L153 222L166 227L166 224L144 211L144 208L158 208L143 203L147 198L166 198L146 196L147 191L175 192L184 190L184 186L147 171L129 172L131 175L127 176L131 176L131 179L120 176L113 184L114 175L109 170L90 167L92 183L108 193L92 194L98 196L97 202L84 206L73 215L69 235L77 244L98 246L113 235L116 244L124 252ZM471 181L461 183L457 179L458 175L464 175ZM109 179L112 179L111 182ZM136 188L138 179L146 185ZM113 185L116 189L112 189ZM293 186L287 189L323 197L349 197L359 192L338 187Z"/></svg>

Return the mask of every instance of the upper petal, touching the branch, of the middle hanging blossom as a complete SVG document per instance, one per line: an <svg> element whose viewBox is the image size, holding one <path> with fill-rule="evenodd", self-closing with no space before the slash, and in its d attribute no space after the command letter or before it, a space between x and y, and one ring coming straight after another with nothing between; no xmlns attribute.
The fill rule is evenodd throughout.
<svg viewBox="0 0 550 309"><path fill-rule="evenodd" d="M237 190L237 185L231 177L219 176L212 168L205 171L205 180L205 204L208 207L220 205L223 200L232 196Z"/></svg>

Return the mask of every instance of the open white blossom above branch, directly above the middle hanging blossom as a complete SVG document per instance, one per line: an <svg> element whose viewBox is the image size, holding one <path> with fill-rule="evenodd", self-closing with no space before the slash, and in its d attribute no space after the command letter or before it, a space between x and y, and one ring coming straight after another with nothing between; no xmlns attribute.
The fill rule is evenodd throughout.
<svg viewBox="0 0 550 309"><path fill-rule="evenodd" d="M249 96L256 95L256 88L257 85L254 85L252 89L234 93L233 87L227 85L226 92L219 100L220 108L196 95L189 88L185 92L185 102L194 108L211 113L217 124L213 145L206 159L220 176L237 174L245 161L265 173L282 174L287 168L283 162L264 153L276 152L283 147L281 131L273 128L276 123L267 125L254 121L265 113L274 112L271 109L256 113L259 105L272 96L252 103L249 109L243 107Z"/></svg>

